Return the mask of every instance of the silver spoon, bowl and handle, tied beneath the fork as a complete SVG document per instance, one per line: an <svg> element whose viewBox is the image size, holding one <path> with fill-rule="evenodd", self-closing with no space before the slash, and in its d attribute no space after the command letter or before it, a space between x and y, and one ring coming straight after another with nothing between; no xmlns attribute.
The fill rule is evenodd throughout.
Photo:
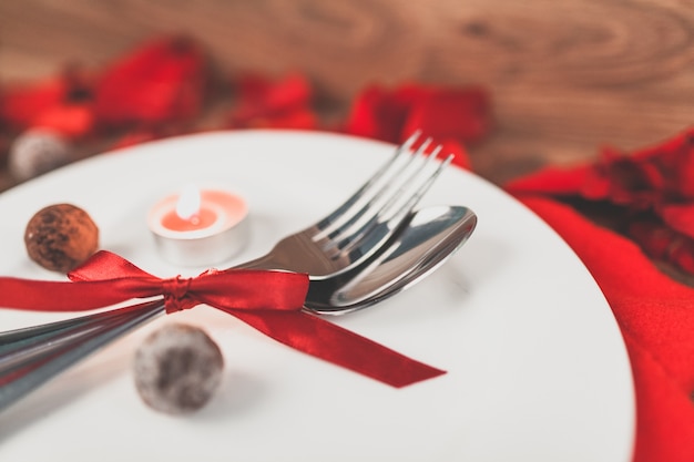
<svg viewBox="0 0 694 462"><path fill-rule="evenodd" d="M477 217L438 206L410 215L363 269L310 281L305 308L344 314L389 298L421 280L468 239ZM0 333L0 410L111 341L164 314L156 299L131 307Z"/></svg>

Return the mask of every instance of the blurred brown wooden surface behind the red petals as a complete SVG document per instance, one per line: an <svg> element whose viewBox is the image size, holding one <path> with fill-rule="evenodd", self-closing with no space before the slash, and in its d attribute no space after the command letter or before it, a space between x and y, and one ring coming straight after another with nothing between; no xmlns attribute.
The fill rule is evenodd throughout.
<svg viewBox="0 0 694 462"><path fill-rule="evenodd" d="M0 83L188 32L221 69L300 70L344 109L368 83L483 84L494 182L694 125L692 0L1 0Z"/></svg>

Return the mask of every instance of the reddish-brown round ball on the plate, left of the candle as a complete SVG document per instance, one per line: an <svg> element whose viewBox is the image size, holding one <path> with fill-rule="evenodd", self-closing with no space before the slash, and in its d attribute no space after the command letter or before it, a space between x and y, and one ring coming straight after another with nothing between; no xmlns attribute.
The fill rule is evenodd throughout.
<svg viewBox="0 0 694 462"><path fill-rule="evenodd" d="M44 207L24 232L29 257L42 267L68 273L99 248L99 228L86 212L71 204Z"/></svg>

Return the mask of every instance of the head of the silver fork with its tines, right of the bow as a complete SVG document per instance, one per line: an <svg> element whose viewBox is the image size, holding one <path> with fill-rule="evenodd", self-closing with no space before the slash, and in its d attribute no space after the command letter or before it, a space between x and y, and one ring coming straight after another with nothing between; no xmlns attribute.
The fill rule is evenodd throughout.
<svg viewBox="0 0 694 462"><path fill-rule="evenodd" d="M441 146L427 153L431 138L412 154L418 137L416 132L398 146L374 176L326 217L237 268L287 269L320 280L366 261L392 236L453 157L435 162Z"/></svg>

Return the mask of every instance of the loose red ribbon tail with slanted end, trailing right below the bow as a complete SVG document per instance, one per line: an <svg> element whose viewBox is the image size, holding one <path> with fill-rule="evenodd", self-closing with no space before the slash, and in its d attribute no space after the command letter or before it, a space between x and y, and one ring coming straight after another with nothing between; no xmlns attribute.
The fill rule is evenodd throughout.
<svg viewBox="0 0 694 462"><path fill-rule="evenodd" d="M220 309L280 343L395 388L446 373L303 311Z"/></svg>

